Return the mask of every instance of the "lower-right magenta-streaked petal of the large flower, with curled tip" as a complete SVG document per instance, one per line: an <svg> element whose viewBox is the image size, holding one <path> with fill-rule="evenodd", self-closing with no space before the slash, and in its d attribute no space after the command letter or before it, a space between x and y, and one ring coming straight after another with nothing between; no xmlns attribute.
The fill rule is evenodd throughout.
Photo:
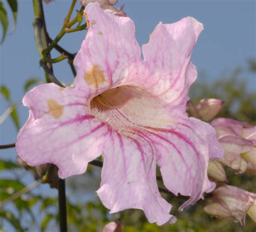
<svg viewBox="0 0 256 232"><path fill-rule="evenodd" d="M197 126L207 130L204 128L201 129L203 133L198 133ZM180 193L191 197L180 209L195 203L204 192L215 187L207 177L208 160L209 156L220 158L223 149L210 125L197 119L187 119L187 122L178 122L168 128L146 129L142 136L149 138L156 147L164 185L176 195Z"/></svg>

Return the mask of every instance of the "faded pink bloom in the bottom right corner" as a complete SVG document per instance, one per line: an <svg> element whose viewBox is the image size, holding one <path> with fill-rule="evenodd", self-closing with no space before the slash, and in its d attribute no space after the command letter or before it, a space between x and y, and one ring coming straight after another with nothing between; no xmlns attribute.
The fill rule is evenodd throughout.
<svg viewBox="0 0 256 232"><path fill-rule="evenodd" d="M256 194L225 185L214 190L206 200L204 212L215 217L232 217L245 226L246 213L256 221Z"/></svg>

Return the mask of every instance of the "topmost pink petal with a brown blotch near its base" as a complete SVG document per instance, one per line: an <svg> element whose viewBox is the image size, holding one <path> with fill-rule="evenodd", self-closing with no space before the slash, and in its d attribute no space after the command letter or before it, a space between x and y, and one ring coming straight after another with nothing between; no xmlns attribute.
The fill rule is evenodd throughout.
<svg viewBox="0 0 256 232"><path fill-rule="evenodd" d="M92 98L122 84L126 70L142 60L130 18L114 16L97 2L86 6L85 16L89 30L74 60L75 85Z"/></svg>

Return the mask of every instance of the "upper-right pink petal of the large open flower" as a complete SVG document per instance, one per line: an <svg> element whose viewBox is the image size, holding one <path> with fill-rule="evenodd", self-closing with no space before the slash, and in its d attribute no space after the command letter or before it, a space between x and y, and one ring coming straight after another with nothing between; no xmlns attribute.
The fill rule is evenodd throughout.
<svg viewBox="0 0 256 232"><path fill-rule="evenodd" d="M169 107L179 106L183 113L189 87L197 77L190 56L201 30L203 25L192 17L173 24L159 23L142 48L154 76L144 85L151 87L152 93L161 96Z"/></svg>

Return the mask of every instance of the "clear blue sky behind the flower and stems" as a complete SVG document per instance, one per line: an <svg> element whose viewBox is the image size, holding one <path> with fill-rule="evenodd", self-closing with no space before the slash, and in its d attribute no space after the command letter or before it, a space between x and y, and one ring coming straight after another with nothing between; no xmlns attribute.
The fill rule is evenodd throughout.
<svg viewBox="0 0 256 232"><path fill-rule="evenodd" d="M6 5L6 1L3 1ZM53 39L62 28L63 20L69 10L71 1L55 0L44 4L46 26ZM207 81L221 77L224 72L232 72L237 66L247 66L248 58L256 57L255 45L255 1L119 1L117 6L125 4L124 11L136 25L136 36L140 45L147 43L149 35L159 23L172 23L186 16L192 16L204 24L197 45L192 54L192 62L198 71L207 73ZM6 8L8 6L6 5ZM80 8L79 1L76 9ZM8 10L11 29L11 12ZM18 1L17 29L13 35L7 35L0 45L0 84L9 88L13 102L21 103L24 95L24 84L29 78L44 80L43 69L39 67L39 55L33 36L32 1ZM10 31L10 30L9 30ZM2 31L0 32L0 35ZM60 45L76 53L79 50L86 31L65 35ZM52 52L56 57L57 52ZM73 80L66 61L55 64L56 77L67 83ZM255 76L247 73L248 90L255 91ZM197 81L200 81L200 76ZM225 99L224 99L225 100ZM0 97L0 115L9 106ZM19 105L21 125L28 118L28 108ZM0 125L0 144L15 142L17 131L11 119ZM0 150L0 157L16 159L15 149ZM27 183L33 180L27 178ZM40 187L39 190L45 189ZM56 194L55 190L50 192Z"/></svg>

